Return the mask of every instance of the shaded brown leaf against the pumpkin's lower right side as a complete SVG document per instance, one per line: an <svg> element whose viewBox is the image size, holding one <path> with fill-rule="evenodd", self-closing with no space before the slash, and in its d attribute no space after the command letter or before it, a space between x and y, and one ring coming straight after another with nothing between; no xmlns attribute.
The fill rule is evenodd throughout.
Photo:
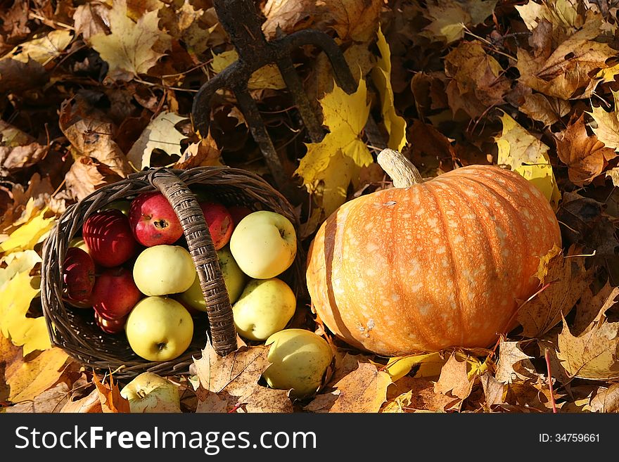
<svg viewBox="0 0 619 462"><path fill-rule="evenodd" d="M568 256L559 252L546 265L546 274L540 280L540 292L518 309L517 320L523 326L522 335L537 338L561 322L593 279L593 272L585 269L585 257ZM548 284L545 286L545 284Z"/></svg>

